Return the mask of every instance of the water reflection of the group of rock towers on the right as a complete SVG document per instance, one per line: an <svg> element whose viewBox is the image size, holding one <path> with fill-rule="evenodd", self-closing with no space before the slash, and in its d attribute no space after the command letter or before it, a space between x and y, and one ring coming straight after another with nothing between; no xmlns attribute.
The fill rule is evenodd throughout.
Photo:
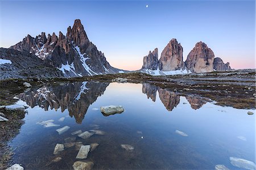
<svg viewBox="0 0 256 170"><path fill-rule="evenodd" d="M162 89L148 83L144 83L142 86L142 93L147 94L147 98L151 98L154 102L156 99L156 91L158 91L159 98L167 110L172 111L172 109L179 104L180 96L175 92L171 92L170 90ZM200 96L186 96L186 99L188 100L192 109L195 110L207 103L205 98Z"/></svg>

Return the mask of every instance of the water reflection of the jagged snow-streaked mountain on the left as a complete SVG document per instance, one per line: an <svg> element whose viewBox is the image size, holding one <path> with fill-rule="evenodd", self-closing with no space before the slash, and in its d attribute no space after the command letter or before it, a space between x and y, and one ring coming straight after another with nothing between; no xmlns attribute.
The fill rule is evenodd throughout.
<svg viewBox="0 0 256 170"><path fill-rule="evenodd" d="M68 109L69 115L81 123L90 104L101 96L109 83L74 82L62 85L43 86L19 95L31 107L40 106L44 110Z"/></svg>

